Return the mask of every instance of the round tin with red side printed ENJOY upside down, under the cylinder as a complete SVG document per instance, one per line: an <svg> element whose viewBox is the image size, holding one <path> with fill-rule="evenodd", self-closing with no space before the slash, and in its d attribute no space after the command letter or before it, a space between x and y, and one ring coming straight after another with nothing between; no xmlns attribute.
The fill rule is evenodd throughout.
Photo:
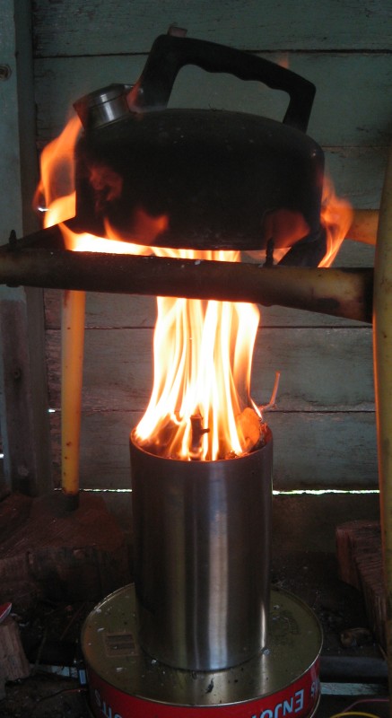
<svg viewBox="0 0 392 718"><path fill-rule="evenodd" d="M137 643L135 589L126 586L83 626L91 712L96 718L305 718L319 701L322 634L310 609L271 591L268 647L240 666L173 669Z"/></svg>

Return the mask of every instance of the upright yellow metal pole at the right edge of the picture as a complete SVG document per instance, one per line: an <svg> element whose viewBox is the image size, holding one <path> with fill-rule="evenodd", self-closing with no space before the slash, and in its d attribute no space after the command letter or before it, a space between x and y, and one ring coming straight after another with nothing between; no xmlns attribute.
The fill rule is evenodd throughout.
<svg viewBox="0 0 392 718"><path fill-rule="evenodd" d="M390 690L392 688L392 146L379 209L374 267L373 333Z"/></svg>

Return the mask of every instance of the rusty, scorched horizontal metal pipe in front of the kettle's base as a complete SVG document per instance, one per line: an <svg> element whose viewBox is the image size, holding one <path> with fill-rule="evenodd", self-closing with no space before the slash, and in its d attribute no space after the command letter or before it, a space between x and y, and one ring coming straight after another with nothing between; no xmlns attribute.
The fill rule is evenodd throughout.
<svg viewBox="0 0 392 718"><path fill-rule="evenodd" d="M280 305L371 321L373 270L262 267L243 262L60 250L0 255L0 284Z"/></svg>

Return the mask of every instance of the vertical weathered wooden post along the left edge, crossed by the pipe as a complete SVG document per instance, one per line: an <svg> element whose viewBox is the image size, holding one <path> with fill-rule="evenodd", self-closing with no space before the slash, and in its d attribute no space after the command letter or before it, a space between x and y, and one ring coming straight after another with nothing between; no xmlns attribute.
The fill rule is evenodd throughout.
<svg viewBox="0 0 392 718"><path fill-rule="evenodd" d="M28 0L4 0L0 13L0 243L13 229L31 232L31 193L37 179ZM49 486L43 299L39 291L0 287L0 423L2 485L26 493Z"/></svg>

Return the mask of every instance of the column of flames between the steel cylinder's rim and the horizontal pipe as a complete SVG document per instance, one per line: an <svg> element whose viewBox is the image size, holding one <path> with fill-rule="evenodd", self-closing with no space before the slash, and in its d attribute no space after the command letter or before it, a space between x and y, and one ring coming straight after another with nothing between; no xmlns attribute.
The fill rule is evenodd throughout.
<svg viewBox="0 0 392 718"><path fill-rule="evenodd" d="M255 406L248 388L258 319L252 304L158 298L152 397L135 433L142 445L197 460L252 448L243 420L247 407Z"/></svg>

